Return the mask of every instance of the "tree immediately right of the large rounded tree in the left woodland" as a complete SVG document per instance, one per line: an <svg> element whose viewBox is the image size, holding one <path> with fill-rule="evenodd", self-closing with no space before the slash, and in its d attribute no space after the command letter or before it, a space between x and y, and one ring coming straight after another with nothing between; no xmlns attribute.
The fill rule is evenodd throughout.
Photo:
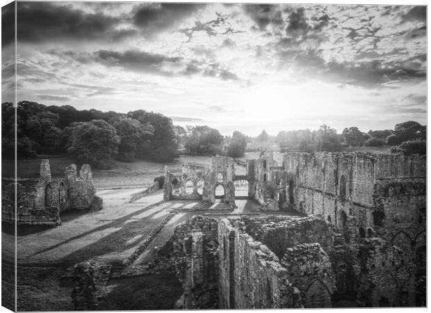
<svg viewBox="0 0 431 313"><path fill-rule="evenodd" d="M154 134L152 125L149 123L142 125L133 118L120 118L118 122L114 122L113 127L121 138L117 158L122 161L133 161L138 147L142 146Z"/></svg>

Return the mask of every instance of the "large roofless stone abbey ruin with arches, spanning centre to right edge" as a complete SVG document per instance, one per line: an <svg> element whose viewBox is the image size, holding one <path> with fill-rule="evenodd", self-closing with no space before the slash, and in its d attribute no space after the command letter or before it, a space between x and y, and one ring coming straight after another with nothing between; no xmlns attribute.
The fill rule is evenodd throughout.
<svg viewBox="0 0 431 313"><path fill-rule="evenodd" d="M229 186L236 176L219 158ZM284 154L282 166L271 153L247 161L241 178L262 210L304 217L198 216L179 225L170 252L156 257L174 259L184 286L178 307L425 306L425 164L421 156L325 152ZM195 169L184 166L181 177L166 170L165 200L213 202L218 168Z"/></svg>

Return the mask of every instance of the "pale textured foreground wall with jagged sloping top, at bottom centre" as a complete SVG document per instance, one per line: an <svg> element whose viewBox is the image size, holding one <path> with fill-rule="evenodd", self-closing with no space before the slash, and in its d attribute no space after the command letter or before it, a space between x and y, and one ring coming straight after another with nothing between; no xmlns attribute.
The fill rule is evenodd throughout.
<svg viewBox="0 0 431 313"><path fill-rule="evenodd" d="M300 307L298 289L289 284L286 269L268 247L220 220L220 308L262 309Z"/></svg>

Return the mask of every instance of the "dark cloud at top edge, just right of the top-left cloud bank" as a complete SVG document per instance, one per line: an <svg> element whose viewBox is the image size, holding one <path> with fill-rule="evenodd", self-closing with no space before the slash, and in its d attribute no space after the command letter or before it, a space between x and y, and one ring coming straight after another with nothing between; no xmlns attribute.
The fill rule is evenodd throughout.
<svg viewBox="0 0 431 313"><path fill-rule="evenodd" d="M133 23L144 36L152 37L179 26L186 17L205 6L202 3L142 3L133 8Z"/></svg>

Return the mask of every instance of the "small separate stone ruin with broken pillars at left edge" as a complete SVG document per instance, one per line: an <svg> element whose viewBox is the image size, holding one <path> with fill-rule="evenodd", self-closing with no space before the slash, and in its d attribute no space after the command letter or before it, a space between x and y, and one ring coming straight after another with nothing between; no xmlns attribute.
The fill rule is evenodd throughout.
<svg viewBox="0 0 431 313"><path fill-rule="evenodd" d="M81 166L79 177L76 166L65 170L65 177L51 177L48 160L40 163L39 179L17 179L17 211L15 216L15 179L2 179L1 219L17 225L60 225L60 213L67 210L102 209L101 198L88 164Z"/></svg>

